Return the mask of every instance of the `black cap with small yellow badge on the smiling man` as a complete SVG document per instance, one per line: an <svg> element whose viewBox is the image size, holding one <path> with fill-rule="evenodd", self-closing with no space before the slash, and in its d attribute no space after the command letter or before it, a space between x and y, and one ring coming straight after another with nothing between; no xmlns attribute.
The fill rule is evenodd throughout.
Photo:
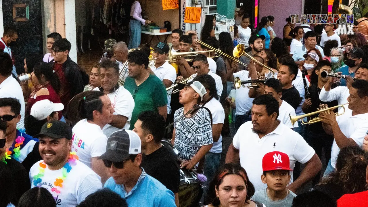
<svg viewBox="0 0 368 207"><path fill-rule="evenodd" d="M67 138L71 140L72 130L71 127L65 122L59 120L52 120L43 124L39 134L34 137L38 138L40 136L48 136L52 138Z"/></svg>

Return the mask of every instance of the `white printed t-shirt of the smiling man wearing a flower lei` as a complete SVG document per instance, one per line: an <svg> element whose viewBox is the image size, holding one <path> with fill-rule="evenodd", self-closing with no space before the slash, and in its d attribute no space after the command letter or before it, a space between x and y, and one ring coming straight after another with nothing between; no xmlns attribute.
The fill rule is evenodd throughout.
<svg viewBox="0 0 368 207"><path fill-rule="evenodd" d="M36 162L29 171L31 188L36 187L33 176L39 173L39 164L41 162L43 160ZM54 196L56 206L75 207L84 201L89 194L102 188L100 176L79 160L76 162L77 164L72 166L70 172L67 173L66 179L63 179L63 187L55 186L54 184L56 178L63 176L63 168L52 171L46 167L44 176L41 177L42 182L37 185L38 187L45 188ZM59 194L52 191L54 187L60 190Z"/></svg>

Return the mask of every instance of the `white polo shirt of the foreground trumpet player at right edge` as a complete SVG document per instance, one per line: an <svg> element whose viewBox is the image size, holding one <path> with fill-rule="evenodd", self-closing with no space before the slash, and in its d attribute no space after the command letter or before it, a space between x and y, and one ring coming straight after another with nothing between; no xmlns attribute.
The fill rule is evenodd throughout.
<svg viewBox="0 0 368 207"><path fill-rule="evenodd" d="M347 106L345 106L347 108ZM353 111L345 111L341 116L336 117L336 121L339 124L340 130L347 138L352 138L355 143L361 148L365 134L368 131L368 113L362 113L355 116ZM339 155L340 148L336 144L336 140L333 140L331 150L331 165L336 168L337 155Z"/></svg>

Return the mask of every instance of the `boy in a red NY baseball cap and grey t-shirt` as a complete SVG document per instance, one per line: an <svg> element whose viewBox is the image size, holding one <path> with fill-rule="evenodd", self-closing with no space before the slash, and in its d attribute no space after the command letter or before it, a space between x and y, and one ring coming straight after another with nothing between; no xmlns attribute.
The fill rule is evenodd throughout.
<svg viewBox="0 0 368 207"><path fill-rule="evenodd" d="M267 187L256 191L252 200L267 207L291 207L296 194L286 189L291 178L289 156L279 151L269 152L262 159L262 168L261 180Z"/></svg>

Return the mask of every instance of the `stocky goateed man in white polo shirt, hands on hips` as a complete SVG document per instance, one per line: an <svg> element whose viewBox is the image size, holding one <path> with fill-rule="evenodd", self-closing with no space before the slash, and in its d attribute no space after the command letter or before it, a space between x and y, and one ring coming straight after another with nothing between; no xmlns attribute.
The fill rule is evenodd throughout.
<svg viewBox="0 0 368 207"><path fill-rule="evenodd" d="M296 161L305 164L298 179L287 188L296 192L308 183L322 168L315 151L303 137L277 120L279 103L271 95L261 95L253 100L252 121L240 126L226 154L226 163L237 162L247 171L255 190L267 187L261 182L262 158L272 151L282 151L290 158L290 169ZM275 157L276 161L277 157ZM291 176L292 178L293 176ZM293 180L293 179L291 179Z"/></svg>

